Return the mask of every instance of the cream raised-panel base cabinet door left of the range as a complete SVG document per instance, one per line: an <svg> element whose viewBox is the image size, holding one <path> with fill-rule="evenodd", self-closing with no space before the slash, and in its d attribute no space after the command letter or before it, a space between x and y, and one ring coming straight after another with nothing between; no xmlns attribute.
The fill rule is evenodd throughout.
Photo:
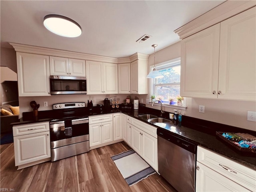
<svg viewBox="0 0 256 192"><path fill-rule="evenodd" d="M14 137L15 166L43 160L51 156L50 132Z"/></svg>

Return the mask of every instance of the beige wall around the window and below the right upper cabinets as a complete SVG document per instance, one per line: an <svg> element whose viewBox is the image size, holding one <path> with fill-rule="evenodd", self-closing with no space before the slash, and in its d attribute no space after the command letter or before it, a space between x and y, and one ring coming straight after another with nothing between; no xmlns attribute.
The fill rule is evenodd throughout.
<svg viewBox="0 0 256 192"><path fill-rule="evenodd" d="M156 64L178 57L180 57L180 42L156 52ZM148 65L153 64L154 54L151 54ZM146 99L149 98L149 94L140 97ZM199 105L204 105L205 113L198 112ZM151 107L149 104L146 106ZM256 101L186 98L186 106L187 109L182 110L182 114L186 116L256 131L256 123L247 121L247 111L256 111ZM160 106L153 108L160 109ZM164 110L173 112L174 109L166 107Z"/></svg>

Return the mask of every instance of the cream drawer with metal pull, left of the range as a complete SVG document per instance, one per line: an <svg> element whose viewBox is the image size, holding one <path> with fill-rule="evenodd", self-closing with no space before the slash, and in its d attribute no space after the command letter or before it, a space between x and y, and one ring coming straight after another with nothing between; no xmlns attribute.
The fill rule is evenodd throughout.
<svg viewBox="0 0 256 192"><path fill-rule="evenodd" d="M49 122L17 125L12 127L13 136L49 131Z"/></svg>

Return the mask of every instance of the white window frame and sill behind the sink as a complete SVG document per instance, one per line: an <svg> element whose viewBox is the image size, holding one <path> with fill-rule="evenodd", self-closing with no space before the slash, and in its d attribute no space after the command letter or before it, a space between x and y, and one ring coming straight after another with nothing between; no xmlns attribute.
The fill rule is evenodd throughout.
<svg viewBox="0 0 256 192"><path fill-rule="evenodd" d="M162 70L162 69L165 69L165 68L175 67L175 66L179 66L179 65L181 65L180 57L172 59L172 60L168 60L168 61L165 61L165 62L158 63L155 66L156 66L156 70ZM150 71L153 70L154 65L151 65L149 68L150 68ZM176 84L180 84L180 82L179 83L174 82L174 83L166 83L166 84L154 84L154 78L152 78L152 79L150 79L150 95L149 95L149 97L152 94L156 95L156 90L155 90L156 87L155 86L158 86L158 85L176 85ZM152 102L150 102L150 103L152 103ZM155 102L155 104L160 105L157 102ZM178 109L182 109L182 110L186 110L186 107L187 107L186 106L186 98L184 98L182 106L179 106L177 104L170 105L167 102L163 102L163 105L165 107L178 108Z"/></svg>

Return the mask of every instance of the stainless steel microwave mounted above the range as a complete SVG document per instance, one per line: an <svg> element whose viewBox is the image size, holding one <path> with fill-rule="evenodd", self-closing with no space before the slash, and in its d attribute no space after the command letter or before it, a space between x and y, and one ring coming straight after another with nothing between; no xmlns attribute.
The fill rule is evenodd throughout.
<svg viewBox="0 0 256 192"><path fill-rule="evenodd" d="M50 76L52 95L86 94L86 77Z"/></svg>

